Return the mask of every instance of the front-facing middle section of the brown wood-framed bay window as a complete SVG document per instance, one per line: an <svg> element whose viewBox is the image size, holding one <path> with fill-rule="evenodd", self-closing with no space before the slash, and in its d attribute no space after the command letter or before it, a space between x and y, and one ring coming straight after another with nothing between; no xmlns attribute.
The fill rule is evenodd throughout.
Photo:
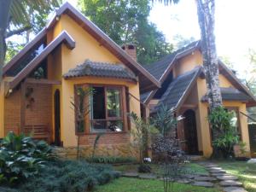
<svg viewBox="0 0 256 192"><path fill-rule="evenodd" d="M90 131L124 130L122 87L92 86L90 96Z"/></svg>

